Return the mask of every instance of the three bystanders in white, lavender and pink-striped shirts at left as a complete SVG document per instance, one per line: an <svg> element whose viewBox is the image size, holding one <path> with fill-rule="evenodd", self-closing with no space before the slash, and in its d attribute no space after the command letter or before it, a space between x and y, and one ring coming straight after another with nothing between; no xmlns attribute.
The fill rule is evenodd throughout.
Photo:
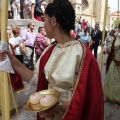
<svg viewBox="0 0 120 120"><path fill-rule="evenodd" d="M19 27L8 30L8 43L12 45L16 58L26 67L34 70L34 56L37 62L50 41L45 35L44 27L39 27L38 34L35 34L34 23L30 22L27 26L23 31Z"/></svg>

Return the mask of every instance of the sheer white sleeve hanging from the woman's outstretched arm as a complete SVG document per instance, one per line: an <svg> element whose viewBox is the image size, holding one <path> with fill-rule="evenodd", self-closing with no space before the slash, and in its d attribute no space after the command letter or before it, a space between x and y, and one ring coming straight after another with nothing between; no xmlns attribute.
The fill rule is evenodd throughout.
<svg viewBox="0 0 120 120"><path fill-rule="evenodd" d="M36 92L37 90L37 84L38 84L38 74L35 73L28 85L28 87L26 88L25 90L25 94L31 94L31 93L34 93Z"/></svg>

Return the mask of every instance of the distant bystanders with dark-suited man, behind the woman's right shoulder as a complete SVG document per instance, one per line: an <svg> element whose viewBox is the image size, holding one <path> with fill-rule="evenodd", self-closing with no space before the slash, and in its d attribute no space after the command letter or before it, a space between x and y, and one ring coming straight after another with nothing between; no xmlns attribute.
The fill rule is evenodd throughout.
<svg viewBox="0 0 120 120"><path fill-rule="evenodd" d="M85 19L78 21L74 30L71 30L71 36L82 41L86 44L91 51L94 50L94 56L97 59L98 46L102 39L102 32L99 28L99 24L95 24L94 29L90 27L90 24Z"/></svg>

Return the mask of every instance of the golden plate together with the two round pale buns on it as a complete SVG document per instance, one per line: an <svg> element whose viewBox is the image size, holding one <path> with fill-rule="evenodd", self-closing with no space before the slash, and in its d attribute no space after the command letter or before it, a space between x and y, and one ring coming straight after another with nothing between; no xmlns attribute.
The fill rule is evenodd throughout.
<svg viewBox="0 0 120 120"><path fill-rule="evenodd" d="M25 102L24 108L29 112L40 112L54 106L60 98L60 94L55 90L43 90L33 93Z"/></svg>

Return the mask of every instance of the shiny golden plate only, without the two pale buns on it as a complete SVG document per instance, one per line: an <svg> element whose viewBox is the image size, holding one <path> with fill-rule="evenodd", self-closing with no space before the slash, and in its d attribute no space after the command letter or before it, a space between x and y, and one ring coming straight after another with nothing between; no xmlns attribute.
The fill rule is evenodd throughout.
<svg viewBox="0 0 120 120"><path fill-rule="evenodd" d="M43 95L53 95L56 99L55 99L55 101L54 101L54 103L52 105L47 106L47 107L43 107L43 106L41 106L40 103L38 103L38 104L31 104L30 103L30 99L28 98L26 100L25 104L24 104L24 108L28 112L41 112L41 111L47 110L50 107L54 106L58 102L58 100L60 98L60 94L57 91L55 91L55 90L49 90L48 89L48 90L40 91L38 93L43 94Z"/></svg>

